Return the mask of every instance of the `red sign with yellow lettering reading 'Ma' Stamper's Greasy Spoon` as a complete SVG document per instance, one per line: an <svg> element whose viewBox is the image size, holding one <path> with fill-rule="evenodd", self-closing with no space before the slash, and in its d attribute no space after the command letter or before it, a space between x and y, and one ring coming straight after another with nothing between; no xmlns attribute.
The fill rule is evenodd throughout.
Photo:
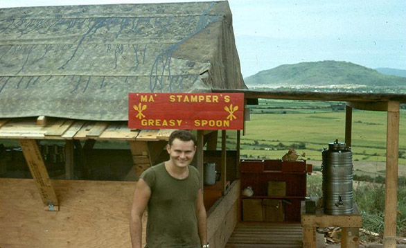
<svg viewBox="0 0 406 248"><path fill-rule="evenodd" d="M242 93L130 93L130 129L242 130Z"/></svg>

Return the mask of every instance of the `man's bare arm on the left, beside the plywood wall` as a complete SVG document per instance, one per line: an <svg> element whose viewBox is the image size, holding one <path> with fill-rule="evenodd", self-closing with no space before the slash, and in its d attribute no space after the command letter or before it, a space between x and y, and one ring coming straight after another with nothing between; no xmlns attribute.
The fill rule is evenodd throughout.
<svg viewBox="0 0 406 248"><path fill-rule="evenodd" d="M136 182L134 198L132 200L130 236L132 248L141 248L142 216L150 200L151 190L143 179Z"/></svg>

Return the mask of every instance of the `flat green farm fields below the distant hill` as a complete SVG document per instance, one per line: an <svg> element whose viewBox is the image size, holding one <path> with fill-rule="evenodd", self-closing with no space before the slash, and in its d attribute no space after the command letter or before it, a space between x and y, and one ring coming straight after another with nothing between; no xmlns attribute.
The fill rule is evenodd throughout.
<svg viewBox="0 0 406 248"><path fill-rule="evenodd" d="M281 159L290 147L321 160L321 151L338 139L344 142L344 103L260 100L251 107L241 139L241 155L247 158ZM404 106L402 106L404 107ZM354 161L385 162L386 112L353 110ZM229 132L229 147L235 135ZM406 165L406 110L400 109L399 164Z"/></svg>

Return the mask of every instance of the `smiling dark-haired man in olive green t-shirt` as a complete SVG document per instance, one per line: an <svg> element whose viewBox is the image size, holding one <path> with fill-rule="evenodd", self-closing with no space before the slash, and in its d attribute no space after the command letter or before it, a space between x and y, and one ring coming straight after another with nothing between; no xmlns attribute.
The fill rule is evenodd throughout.
<svg viewBox="0 0 406 248"><path fill-rule="evenodd" d="M141 248L142 215L148 206L148 248L209 247L199 172L190 163L196 138L177 130L169 137L169 160L145 170L139 177L132 203L132 248Z"/></svg>

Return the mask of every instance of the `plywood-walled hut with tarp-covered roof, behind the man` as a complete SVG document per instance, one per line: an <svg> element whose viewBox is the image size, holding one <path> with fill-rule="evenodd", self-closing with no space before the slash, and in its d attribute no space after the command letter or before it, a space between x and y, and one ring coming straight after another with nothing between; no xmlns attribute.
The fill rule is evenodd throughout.
<svg viewBox="0 0 406 248"><path fill-rule="evenodd" d="M33 177L0 179L1 247L130 247L133 181L165 159L171 130L128 129L128 93L247 88L227 1L3 8L0 29L0 143L19 141ZM197 134L198 168L223 165L221 185L205 188L209 240L222 247L237 222L238 154L223 135L204 157L217 132ZM92 149L101 141L127 150ZM55 161L49 142L62 143ZM105 163L113 174L112 157L130 157L123 181L78 180ZM1 172L21 163L2 157Z"/></svg>

